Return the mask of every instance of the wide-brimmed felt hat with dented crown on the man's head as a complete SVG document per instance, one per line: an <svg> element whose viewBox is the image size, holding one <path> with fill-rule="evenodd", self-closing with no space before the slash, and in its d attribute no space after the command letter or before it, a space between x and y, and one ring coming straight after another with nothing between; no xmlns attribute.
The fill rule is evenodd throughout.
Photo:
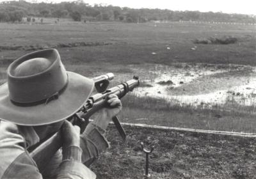
<svg viewBox="0 0 256 179"><path fill-rule="evenodd" d="M38 74L15 75L20 64L35 58L51 65ZM83 107L93 86L92 79L67 72L56 49L26 54L8 67L7 82L0 86L0 120L27 126L65 120Z"/></svg>

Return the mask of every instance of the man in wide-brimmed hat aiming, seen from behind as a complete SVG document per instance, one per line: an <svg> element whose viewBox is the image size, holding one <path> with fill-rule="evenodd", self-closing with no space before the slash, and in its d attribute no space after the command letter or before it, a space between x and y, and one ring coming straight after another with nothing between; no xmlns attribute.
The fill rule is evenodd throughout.
<svg viewBox="0 0 256 179"><path fill-rule="evenodd" d="M103 134L122 105L116 95L109 96L109 107L80 135L80 128L66 119L83 106L93 87L92 79L65 70L56 49L13 61L0 86L0 178L96 178L86 166L108 147ZM62 152L39 171L28 148L58 130Z"/></svg>

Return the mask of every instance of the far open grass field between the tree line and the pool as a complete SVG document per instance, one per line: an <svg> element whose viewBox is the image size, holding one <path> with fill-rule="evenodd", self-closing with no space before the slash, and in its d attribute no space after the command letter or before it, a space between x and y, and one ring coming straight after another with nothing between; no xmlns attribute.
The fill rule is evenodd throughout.
<svg viewBox="0 0 256 179"><path fill-rule="evenodd" d="M64 21L59 24L0 24L1 47L20 47L17 52L2 51L2 59L13 59L24 50L57 47L67 64L108 62L116 64L237 63L255 65L255 26L228 24L177 24ZM236 36L231 45L197 44L197 38ZM60 44L85 42L88 46L61 48ZM109 45L99 45L109 43ZM166 46L170 51L166 51ZM152 56L156 52L156 56ZM17 56L15 56L17 55Z"/></svg>

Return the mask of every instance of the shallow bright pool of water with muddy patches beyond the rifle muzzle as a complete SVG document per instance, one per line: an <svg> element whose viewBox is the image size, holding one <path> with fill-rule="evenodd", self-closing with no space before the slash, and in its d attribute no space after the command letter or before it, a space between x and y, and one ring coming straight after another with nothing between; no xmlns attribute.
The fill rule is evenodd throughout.
<svg viewBox="0 0 256 179"><path fill-rule="evenodd" d="M189 105L253 105L256 99L256 68L246 65L177 64L148 65L141 72L136 95L156 97ZM145 72L143 74L142 72Z"/></svg>

